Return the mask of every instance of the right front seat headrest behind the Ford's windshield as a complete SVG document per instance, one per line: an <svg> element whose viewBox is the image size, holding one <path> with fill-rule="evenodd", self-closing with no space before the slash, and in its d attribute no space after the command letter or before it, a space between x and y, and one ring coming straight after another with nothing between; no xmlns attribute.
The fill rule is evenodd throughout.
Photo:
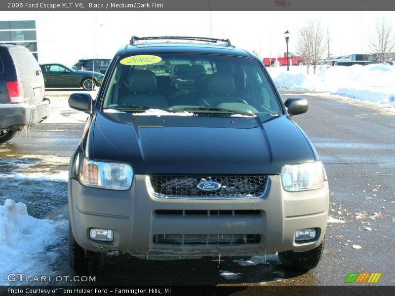
<svg viewBox="0 0 395 296"><path fill-rule="evenodd" d="M207 81L207 94L213 96L229 95L236 92L233 75L226 72L217 72L211 75Z"/></svg>

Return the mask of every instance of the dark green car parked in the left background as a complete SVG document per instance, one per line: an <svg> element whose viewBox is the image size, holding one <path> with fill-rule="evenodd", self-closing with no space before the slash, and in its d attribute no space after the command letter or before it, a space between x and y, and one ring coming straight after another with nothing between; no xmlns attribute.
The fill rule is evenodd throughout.
<svg viewBox="0 0 395 296"><path fill-rule="evenodd" d="M100 86L104 75L92 71L76 71L62 64L40 65L45 87L82 87L92 90Z"/></svg>

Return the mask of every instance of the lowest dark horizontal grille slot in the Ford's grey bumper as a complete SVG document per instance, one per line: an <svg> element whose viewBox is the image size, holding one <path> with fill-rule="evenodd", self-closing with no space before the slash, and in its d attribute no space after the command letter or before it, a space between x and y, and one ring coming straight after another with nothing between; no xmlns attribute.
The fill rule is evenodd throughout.
<svg viewBox="0 0 395 296"><path fill-rule="evenodd" d="M157 234L154 243L168 245L235 245L256 244L259 234Z"/></svg>

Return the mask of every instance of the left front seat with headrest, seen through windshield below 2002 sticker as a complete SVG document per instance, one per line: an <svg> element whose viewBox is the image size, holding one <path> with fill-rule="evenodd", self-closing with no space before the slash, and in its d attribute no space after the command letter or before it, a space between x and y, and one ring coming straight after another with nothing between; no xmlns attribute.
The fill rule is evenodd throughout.
<svg viewBox="0 0 395 296"><path fill-rule="evenodd" d="M119 105L167 108L166 99L157 91L158 81L154 72L134 70L129 77L129 93L119 99Z"/></svg>

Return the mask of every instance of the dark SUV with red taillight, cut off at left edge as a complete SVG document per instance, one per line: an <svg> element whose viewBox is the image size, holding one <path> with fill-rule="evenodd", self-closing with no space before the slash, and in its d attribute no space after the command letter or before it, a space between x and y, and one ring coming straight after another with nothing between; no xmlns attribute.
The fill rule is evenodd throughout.
<svg viewBox="0 0 395 296"><path fill-rule="evenodd" d="M0 44L0 144L49 113L44 79L35 57L24 46Z"/></svg>

